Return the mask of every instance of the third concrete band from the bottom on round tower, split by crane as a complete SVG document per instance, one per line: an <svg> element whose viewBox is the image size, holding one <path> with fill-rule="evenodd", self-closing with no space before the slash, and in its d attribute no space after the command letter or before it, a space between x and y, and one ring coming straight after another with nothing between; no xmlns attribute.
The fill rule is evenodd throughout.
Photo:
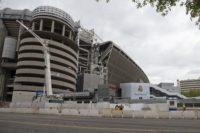
<svg viewBox="0 0 200 133"><path fill-rule="evenodd" d="M16 76L18 75L23 75L23 74L34 74L34 75L41 75L44 76L44 70L40 70L40 69L30 69L30 68L24 68L24 69L17 69L16 71ZM63 80L68 80L72 83L76 83L76 80L72 77L70 77L69 75L66 74L62 74L62 73L58 73L58 72L51 72L51 77L52 78L60 78Z"/></svg>

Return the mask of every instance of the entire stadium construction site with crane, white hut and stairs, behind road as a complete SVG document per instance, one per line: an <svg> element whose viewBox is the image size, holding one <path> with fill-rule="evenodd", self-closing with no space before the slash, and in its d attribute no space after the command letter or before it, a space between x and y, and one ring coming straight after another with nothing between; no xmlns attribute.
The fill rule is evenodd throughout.
<svg viewBox="0 0 200 133"><path fill-rule="evenodd" d="M112 110L99 110L152 113L182 109L183 105L200 107L199 99L151 84L117 44L103 41L94 29L88 30L51 6L0 10L0 62L1 103L21 108L17 111L29 108L25 112L34 112L31 108L36 108L40 112L42 108L59 114L67 108L71 109L67 114L83 111L112 116ZM159 113L153 114L157 118Z"/></svg>

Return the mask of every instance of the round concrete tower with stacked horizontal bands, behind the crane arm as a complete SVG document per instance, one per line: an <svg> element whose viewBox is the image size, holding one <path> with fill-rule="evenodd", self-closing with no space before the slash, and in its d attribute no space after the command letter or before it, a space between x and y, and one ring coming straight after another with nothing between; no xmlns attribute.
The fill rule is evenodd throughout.
<svg viewBox="0 0 200 133"><path fill-rule="evenodd" d="M31 25L32 30L49 44L53 92L75 91L78 46L74 21L60 9L40 6L33 11ZM42 90L44 73L43 47L31 34L23 32L14 90Z"/></svg>

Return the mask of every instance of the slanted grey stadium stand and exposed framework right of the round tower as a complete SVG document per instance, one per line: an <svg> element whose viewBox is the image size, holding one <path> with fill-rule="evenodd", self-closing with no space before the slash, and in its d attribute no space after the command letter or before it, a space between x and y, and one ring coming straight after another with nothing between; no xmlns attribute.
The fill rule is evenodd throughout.
<svg viewBox="0 0 200 133"><path fill-rule="evenodd" d="M96 41L97 40L97 41ZM93 30L83 30L79 33L79 76L99 75L103 81L96 78L90 82L96 85L106 85L106 88L119 89L120 83L136 82L149 83L143 70L115 43L102 42ZM88 79L78 80L78 90L88 88ZM96 87L96 86L95 86ZM108 96L109 97L109 96Z"/></svg>

